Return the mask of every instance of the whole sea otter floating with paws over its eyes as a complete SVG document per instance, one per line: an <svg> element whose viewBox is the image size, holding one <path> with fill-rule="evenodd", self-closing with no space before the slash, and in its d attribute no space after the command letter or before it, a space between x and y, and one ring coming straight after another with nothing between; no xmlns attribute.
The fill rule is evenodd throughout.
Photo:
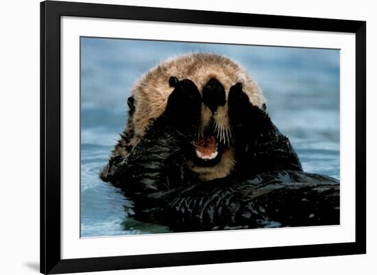
<svg viewBox="0 0 377 275"><path fill-rule="evenodd" d="M149 70L101 179L174 231L339 224L339 182L302 171L247 71L193 53Z"/></svg>

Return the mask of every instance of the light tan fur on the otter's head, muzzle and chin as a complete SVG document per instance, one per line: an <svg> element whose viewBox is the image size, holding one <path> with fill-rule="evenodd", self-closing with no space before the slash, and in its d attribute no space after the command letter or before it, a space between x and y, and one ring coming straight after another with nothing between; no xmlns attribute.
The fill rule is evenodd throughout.
<svg viewBox="0 0 377 275"><path fill-rule="evenodd" d="M221 82L225 98L228 97L231 86L242 83L243 91L247 94L250 102L258 107L263 107L265 99L255 81L247 74L246 70L221 55L208 53L195 53L162 62L156 68L152 68L132 88L132 96L128 100L130 106L127 128L122 134L121 140L112 151L110 162L127 157L132 148L138 144L145 130L154 119L161 116L167 106L167 101L173 87L169 79L190 79L197 86L199 93L203 90L210 79ZM204 131L211 122L217 127L217 135L221 142L228 143L232 138L230 122L228 118L228 104L219 105L215 114L210 107L202 104L201 121L199 131ZM202 181L219 179L228 176L234 168L234 151L231 147L223 151L221 161L216 166L197 166L191 162L191 169L198 174ZM102 173L106 179L112 173L109 166Z"/></svg>

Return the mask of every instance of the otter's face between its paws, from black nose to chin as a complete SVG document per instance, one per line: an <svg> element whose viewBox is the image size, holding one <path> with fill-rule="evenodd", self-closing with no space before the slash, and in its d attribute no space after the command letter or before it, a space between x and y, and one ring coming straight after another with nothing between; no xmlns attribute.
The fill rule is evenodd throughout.
<svg viewBox="0 0 377 275"><path fill-rule="evenodd" d="M200 179L208 181L231 172L235 164L234 149L228 118L228 92L215 77L199 91L202 94L201 123L188 164Z"/></svg>

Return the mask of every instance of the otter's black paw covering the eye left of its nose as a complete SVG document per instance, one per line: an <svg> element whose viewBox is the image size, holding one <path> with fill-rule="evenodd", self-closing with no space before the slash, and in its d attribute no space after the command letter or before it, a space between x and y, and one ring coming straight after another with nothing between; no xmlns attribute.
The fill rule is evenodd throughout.
<svg viewBox="0 0 377 275"><path fill-rule="evenodd" d="M199 124L202 96L195 83L190 79L178 81L175 77L171 77L169 84L174 90L167 101L165 118L171 122L171 125L180 128Z"/></svg>

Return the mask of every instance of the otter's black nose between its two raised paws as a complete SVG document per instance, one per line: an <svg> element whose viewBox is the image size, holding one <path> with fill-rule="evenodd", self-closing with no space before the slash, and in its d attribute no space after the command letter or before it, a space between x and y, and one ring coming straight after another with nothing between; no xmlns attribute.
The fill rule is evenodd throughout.
<svg viewBox="0 0 377 275"><path fill-rule="evenodd" d="M212 114L215 114L219 106L225 105L225 90L217 79L211 78L203 87L203 103L210 108Z"/></svg>

